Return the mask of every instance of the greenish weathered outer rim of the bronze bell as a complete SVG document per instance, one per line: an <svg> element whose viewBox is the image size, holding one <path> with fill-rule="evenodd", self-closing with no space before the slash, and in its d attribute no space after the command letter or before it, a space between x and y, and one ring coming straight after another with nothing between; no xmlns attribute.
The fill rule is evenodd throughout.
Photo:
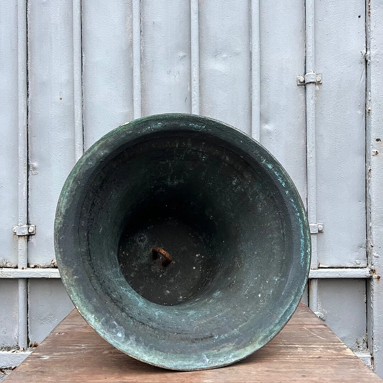
<svg viewBox="0 0 383 383"><path fill-rule="evenodd" d="M158 354L155 358L147 357L147 354L141 355L140 353L131 352L132 350L128 350L126 347L121 347L119 344L117 344L113 338L108 336L108 334L105 334L105 332L102 331L102 326L100 326L97 323L97 319L95 319L95 316L84 307L84 305L81 302L81 297L78 294L78 289L76 288L76 283L73 282L73 278L70 277L70 272L68 272L68 268L65 265L65 261L62 257L62 247L61 247L61 241L58 237L58 233L62 229L62 220L63 217L65 218L65 210L67 206L65 206L65 200L67 199L68 193L70 193L69 189L73 187L74 180L77 179L81 175L81 167L87 162L88 157L91 153L95 153L100 146L105 144L106 141L113 139L113 136L116 135L118 132L124 132L128 129L132 129L134 126L142 125L146 123L152 123L152 127L156 122L159 122L160 125L157 126L155 129L161 129L161 122L165 121L167 119L170 119L172 121L189 121L191 125L195 126L203 126L204 123L213 124L214 126L219 126L219 128L224 129L234 129L236 131L236 134L240 137L243 137L244 141L246 141L247 144L251 143L251 145L256 144L260 150L262 150L265 154L265 157L268 158L269 162L270 160L273 162L273 164L278 165L278 174L282 177L283 182L286 182L288 184L288 190L292 193L291 198L294 200L294 203L297 207L297 212L301 216L301 220L303 222L303 230L302 230L302 237L301 241L303 241L303 248L304 248L304 255L302 253L301 261L304 263L304 273L301 275L301 280L299 283L299 286L297 288L297 294L292 296L292 299L290 303L287 305L283 315L278 319L277 326L274 326L274 331L270 332L267 337L265 337L262 342L262 344L254 344L256 342L252 342L249 347L242 348L239 350L240 352L237 352L236 354L233 354L233 357L225 358L225 360L222 360L222 363L216 363L216 365L203 365L202 363L190 363L190 366L183 366L181 368L177 368L177 366L174 363L164 363L160 362L160 359L166 360L169 359L169 355L167 355L166 358L158 357ZM195 126L190 126L191 129L199 129L195 128ZM201 130L199 130L201 132ZM242 141L241 141L242 142ZM251 147L251 145L244 148L244 150L248 151L248 148ZM103 154L105 155L105 154ZM77 162L75 167L70 172L69 176L67 177L67 180L64 183L64 187L62 188L61 195L59 198L59 202L57 204L57 210L56 210L56 219L55 219L55 225L54 225L54 244L55 244L55 251L56 251L56 258L58 262L59 271L61 274L62 282L64 283L65 289L67 290L70 299L74 303L74 306L79 311L79 313L82 315L82 317L87 321L87 323L108 343L113 345L115 348L122 351L124 354L127 354L137 360L140 360L142 362L148 363L150 365L166 368L169 370L178 370L178 371L197 371L197 370L208 370L213 368L219 368L224 367L227 365L230 365L232 363L238 362L240 360L243 360L247 356L253 354L255 351L262 348L265 344L267 344L270 340L272 340L285 326L285 324L288 322L288 320L291 318L293 313L295 312L296 308L298 307L298 304L301 300L301 296L303 295L304 288L306 285L306 282L308 280L308 274L309 274L309 266L310 266L310 260L311 260L311 237L309 232L309 226L307 221L307 215L306 211L304 209L303 202L301 200L301 197L296 190L296 187L291 180L290 176L286 172L286 170L283 168L283 166L275 159L275 157L267 150L265 149L259 142L257 142L255 139L250 137L248 134L244 133L243 131L230 126L226 123L223 123L221 121L203 117L203 116L197 116L197 115L187 115L187 114L181 114L181 113L166 113L161 115L152 115L147 116L144 118L133 120L129 123L123 124L119 126L118 128L112 130L111 132L105 134L105 136L101 137L95 144L93 144L80 158L80 160Z"/></svg>

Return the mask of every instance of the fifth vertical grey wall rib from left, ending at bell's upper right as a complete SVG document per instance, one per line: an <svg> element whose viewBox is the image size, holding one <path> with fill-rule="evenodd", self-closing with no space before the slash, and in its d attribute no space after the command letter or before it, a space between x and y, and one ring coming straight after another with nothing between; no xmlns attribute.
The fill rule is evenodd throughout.
<svg viewBox="0 0 383 383"><path fill-rule="evenodd" d="M251 136L260 142L260 28L259 0L250 0Z"/></svg>

